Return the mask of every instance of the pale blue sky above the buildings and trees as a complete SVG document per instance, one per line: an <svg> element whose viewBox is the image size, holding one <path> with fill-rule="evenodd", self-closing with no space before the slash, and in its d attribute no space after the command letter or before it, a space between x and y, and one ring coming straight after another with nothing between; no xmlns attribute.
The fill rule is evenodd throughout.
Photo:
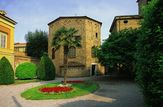
<svg viewBox="0 0 163 107"><path fill-rule="evenodd" d="M60 16L88 16L102 22L104 40L115 16L138 14L136 0L0 0L0 10L17 22L15 42L25 42L28 31L48 32L47 24Z"/></svg>

